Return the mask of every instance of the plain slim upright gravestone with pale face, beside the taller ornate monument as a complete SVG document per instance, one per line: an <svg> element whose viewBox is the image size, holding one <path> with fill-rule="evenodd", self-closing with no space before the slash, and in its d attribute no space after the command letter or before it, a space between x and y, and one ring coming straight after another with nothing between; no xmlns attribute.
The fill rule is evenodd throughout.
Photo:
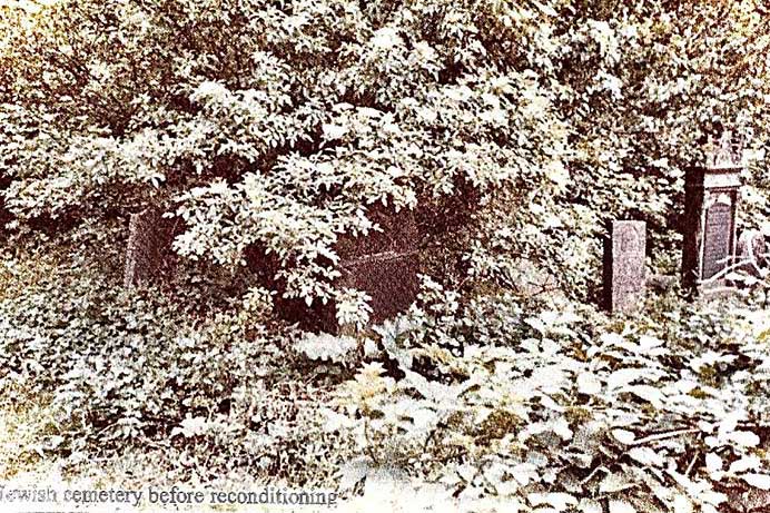
<svg viewBox="0 0 770 513"><path fill-rule="evenodd" d="M612 220L604 239L604 307L630 313L644 296L646 225L644 221Z"/></svg>

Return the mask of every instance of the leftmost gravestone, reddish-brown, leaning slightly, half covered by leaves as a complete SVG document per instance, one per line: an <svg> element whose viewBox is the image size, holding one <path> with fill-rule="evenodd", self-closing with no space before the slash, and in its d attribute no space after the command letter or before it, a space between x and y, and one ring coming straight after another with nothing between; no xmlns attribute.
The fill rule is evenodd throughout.
<svg viewBox="0 0 770 513"><path fill-rule="evenodd" d="M132 214L128 224L124 286L150 284L174 272L174 241L177 223L162 217L162 209L147 208Z"/></svg>

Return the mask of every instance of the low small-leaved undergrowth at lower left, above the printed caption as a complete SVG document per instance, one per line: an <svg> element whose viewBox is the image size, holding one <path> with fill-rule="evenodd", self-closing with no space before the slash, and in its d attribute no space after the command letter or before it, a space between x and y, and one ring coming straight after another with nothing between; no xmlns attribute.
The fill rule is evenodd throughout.
<svg viewBox="0 0 770 513"><path fill-rule="evenodd" d="M141 450L180 479L330 480L343 453L319 427L323 389L300 386L298 334L260 317L264 298L196 317L157 289L124 290L89 259L20 251L3 265L2 407L45 399L50 415L29 455L77 468Z"/></svg>

